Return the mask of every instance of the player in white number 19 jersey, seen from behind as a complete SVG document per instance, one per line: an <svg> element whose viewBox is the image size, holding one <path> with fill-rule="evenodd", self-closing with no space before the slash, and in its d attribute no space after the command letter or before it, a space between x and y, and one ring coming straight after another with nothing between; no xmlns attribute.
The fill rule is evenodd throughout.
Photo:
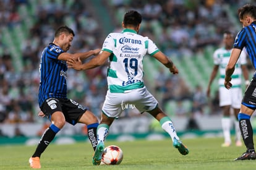
<svg viewBox="0 0 256 170"><path fill-rule="evenodd" d="M151 95L143 83L143 57L154 57L169 69L178 74L178 69L171 59L165 56L147 36L138 35L142 15L137 11L128 11L124 15L121 33L109 33L106 37L102 53L89 62L70 60L69 67L77 70L93 69L109 61L108 92L102 108L101 121L97 129L98 145L93 155L93 164L101 163L105 148L104 141L109 134L109 126L119 117L127 104L135 106L140 113L148 112L157 119L161 127L170 135L173 146L182 155L189 150L182 144L176 134L173 122L158 107L158 101ZM145 56L149 54L149 56ZM153 69L153 68L152 68Z"/></svg>

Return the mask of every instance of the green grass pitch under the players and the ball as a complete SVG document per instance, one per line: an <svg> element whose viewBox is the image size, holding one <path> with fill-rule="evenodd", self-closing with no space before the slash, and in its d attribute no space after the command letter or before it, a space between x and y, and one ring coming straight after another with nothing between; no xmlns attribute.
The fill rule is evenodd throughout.
<svg viewBox="0 0 256 170"><path fill-rule="evenodd" d="M119 165L92 165L90 143L49 145L41 156L42 169L255 169L256 160L234 161L245 147L231 145L221 148L223 138L184 139L189 155L181 155L171 140L137 140L134 142L105 142L124 151ZM30 169L28 158L35 146L9 145L0 147L0 169Z"/></svg>

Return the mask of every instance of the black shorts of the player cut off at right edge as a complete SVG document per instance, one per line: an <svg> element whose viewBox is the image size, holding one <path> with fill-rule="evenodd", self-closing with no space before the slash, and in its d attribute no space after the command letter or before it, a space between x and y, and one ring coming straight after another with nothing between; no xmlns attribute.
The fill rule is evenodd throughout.
<svg viewBox="0 0 256 170"><path fill-rule="evenodd" d="M256 109L256 78L253 78L249 86L244 92L244 98L242 104L247 108Z"/></svg>

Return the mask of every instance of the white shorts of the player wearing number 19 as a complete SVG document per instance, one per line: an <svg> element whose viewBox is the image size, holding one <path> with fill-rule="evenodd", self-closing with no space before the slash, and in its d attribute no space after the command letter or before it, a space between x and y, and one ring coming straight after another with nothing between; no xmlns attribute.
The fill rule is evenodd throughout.
<svg viewBox="0 0 256 170"><path fill-rule="evenodd" d="M140 113L156 108L158 101L146 87L128 90L125 93L110 93L109 90L102 111L108 117L119 117L124 109L137 108Z"/></svg>

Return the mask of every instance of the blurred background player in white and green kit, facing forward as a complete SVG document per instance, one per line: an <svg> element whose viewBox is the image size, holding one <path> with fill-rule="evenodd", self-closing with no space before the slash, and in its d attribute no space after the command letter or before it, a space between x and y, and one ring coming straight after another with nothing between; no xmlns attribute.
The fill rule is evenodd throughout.
<svg viewBox="0 0 256 170"><path fill-rule="evenodd" d="M231 119L231 108L233 109L234 116L234 127L236 132L236 146L241 147L241 132L239 129L239 123L237 120L237 114L239 113L241 102L242 102L242 75L245 79L245 84L249 84L248 71L247 71L247 60L246 53L241 52L239 60L236 63L236 70L232 75L233 88L230 90L226 89L223 85L225 77L225 69L228 64L231 50L234 43L234 34L230 31L225 31L223 33L223 47L216 49L213 53L214 66L211 72L210 80L207 88L207 96L210 97L211 83L215 79L218 70L220 71L219 84L219 96L220 96L220 107L223 111L223 117L221 119L221 125L223 129L224 143L222 147L229 147L231 145L231 127L233 122Z"/></svg>

